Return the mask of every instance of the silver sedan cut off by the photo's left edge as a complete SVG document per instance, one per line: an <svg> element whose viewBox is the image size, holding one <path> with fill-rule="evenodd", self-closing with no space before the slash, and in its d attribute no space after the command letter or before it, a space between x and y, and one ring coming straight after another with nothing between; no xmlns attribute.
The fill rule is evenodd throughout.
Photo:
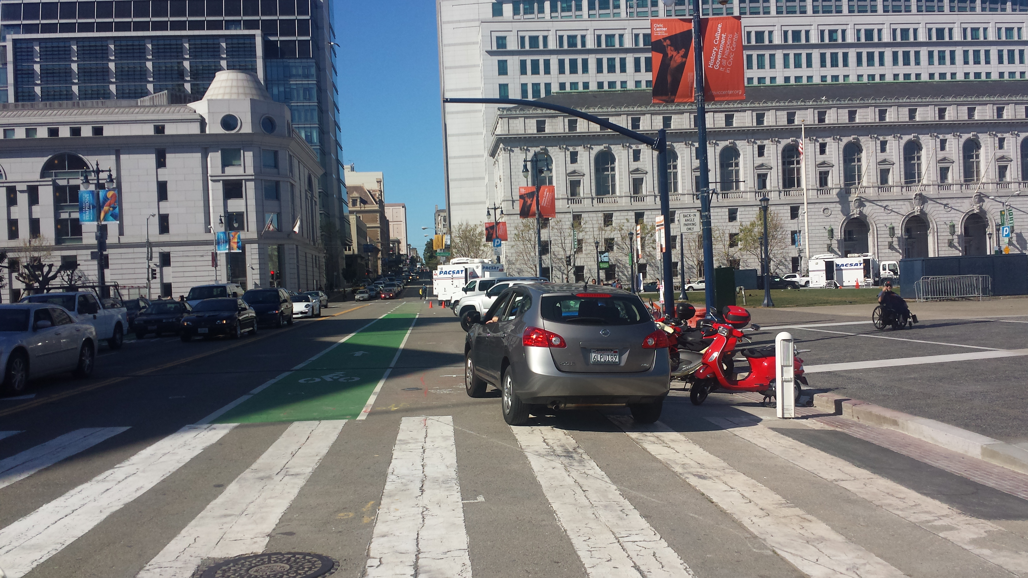
<svg viewBox="0 0 1028 578"><path fill-rule="evenodd" d="M63 308L50 303L0 305L0 367L3 391L21 395L29 381L50 373L93 373L97 330L76 323Z"/></svg>

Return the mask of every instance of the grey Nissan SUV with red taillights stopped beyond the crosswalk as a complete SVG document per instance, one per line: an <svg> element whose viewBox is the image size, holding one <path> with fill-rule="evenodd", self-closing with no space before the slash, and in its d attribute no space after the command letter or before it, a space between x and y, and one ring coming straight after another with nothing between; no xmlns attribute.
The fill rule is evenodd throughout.
<svg viewBox="0 0 1028 578"><path fill-rule="evenodd" d="M573 404L627 405L660 419L669 391L667 337L638 296L595 285L536 283L504 291L474 316L465 340L465 387L502 393L504 420Z"/></svg>

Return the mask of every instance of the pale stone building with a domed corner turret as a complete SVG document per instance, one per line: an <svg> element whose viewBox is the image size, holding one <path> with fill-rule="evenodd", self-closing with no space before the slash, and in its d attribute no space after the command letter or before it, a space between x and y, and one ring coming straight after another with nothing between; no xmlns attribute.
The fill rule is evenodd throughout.
<svg viewBox="0 0 1028 578"><path fill-rule="evenodd" d="M95 283L96 225L79 223L78 190L82 170L99 161L102 180L111 169L121 203L120 222L108 224L109 283L145 295L149 233L154 298L216 281L267 287L272 270L289 289L325 286L324 170L289 106L244 71L218 72L204 99L186 100L166 92L0 104L3 249L19 258L24 243L40 240L52 254L47 262L77 265ZM244 249L219 254L212 266L215 231L240 231ZM24 287L10 272L5 282L4 300L16 300Z"/></svg>

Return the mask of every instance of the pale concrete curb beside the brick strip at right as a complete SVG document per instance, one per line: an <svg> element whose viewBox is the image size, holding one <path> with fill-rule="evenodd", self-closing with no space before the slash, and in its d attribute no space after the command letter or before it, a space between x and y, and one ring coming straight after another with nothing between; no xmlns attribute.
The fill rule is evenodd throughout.
<svg viewBox="0 0 1028 578"><path fill-rule="evenodd" d="M848 420L903 432L947 449L1028 474L1028 449L998 439L832 393L814 394L814 406Z"/></svg>

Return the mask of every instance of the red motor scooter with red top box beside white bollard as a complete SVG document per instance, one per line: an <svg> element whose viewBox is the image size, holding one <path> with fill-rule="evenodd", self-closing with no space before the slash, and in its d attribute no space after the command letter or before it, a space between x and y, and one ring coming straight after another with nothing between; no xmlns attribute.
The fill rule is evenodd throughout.
<svg viewBox="0 0 1028 578"><path fill-rule="evenodd" d="M712 328L717 333L710 346L702 352L699 366L685 377L690 385L689 399L694 405L699 405L711 392L723 390L726 393L762 393L767 402L776 395L774 346L736 350L736 342L743 338L742 328L749 324L749 312L736 305L726 305L722 316L723 320L713 322ZM759 325L751 327L760 329ZM748 370L736 370L736 353L746 359ZM796 399L799 399L800 385L810 386L803 374L803 360L794 358L793 367L796 372L794 390Z"/></svg>

